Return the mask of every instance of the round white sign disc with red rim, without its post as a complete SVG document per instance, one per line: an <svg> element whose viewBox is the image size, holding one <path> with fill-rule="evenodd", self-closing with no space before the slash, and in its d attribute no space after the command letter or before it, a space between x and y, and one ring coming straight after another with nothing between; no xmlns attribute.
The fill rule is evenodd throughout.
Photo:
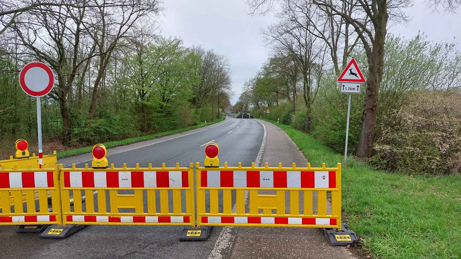
<svg viewBox="0 0 461 259"><path fill-rule="evenodd" d="M19 85L30 96L47 95L53 89L53 71L44 63L29 63L19 73Z"/></svg>

